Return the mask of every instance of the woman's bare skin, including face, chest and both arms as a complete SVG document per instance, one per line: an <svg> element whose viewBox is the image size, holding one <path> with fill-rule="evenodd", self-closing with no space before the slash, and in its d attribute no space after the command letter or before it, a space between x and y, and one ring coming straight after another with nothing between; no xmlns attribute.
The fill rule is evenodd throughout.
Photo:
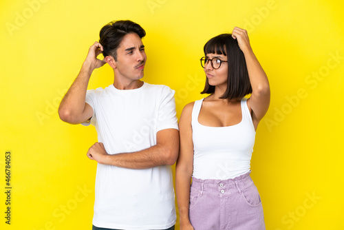
<svg viewBox="0 0 344 230"><path fill-rule="evenodd" d="M244 53L248 75L252 86L252 95L247 101L252 116L253 125L257 129L259 121L268 111L270 104L270 86L268 78L252 52L246 30L235 27L232 36L237 39L239 48ZM224 54L206 54L208 59L218 57L227 61ZM211 127L225 127L235 125L241 121L241 98L228 100L221 97L226 92L228 64L222 63L215 70L211 63L204 67L208 83L215 86L215 92L204 98L199 123ZM193 229L189 220L190 183L193 173L193 140L191 127L191 113L194 103L186 105L180 116L180 154L175 168L175 187L180 211L180 229Z"/></svg>

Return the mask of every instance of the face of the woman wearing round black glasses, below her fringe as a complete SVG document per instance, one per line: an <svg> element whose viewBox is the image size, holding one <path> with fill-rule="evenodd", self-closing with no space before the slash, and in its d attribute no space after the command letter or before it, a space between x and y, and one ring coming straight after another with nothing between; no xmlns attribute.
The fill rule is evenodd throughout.
<svg viewBox="0 0 344 230"><path fill-rule="evenodd" d="M209 60L213 60L213 65L215 66L215 62L219 63L219 60L221 61L227 61L227 56L224 56L224 54L206 54L206 58ZM217 60L219 59L219 60ZM213 66L211 66L211 61L208 61L204 65L204 72L206 73L206 77L208 79L209 85L213 86L220 86L225 85L227 87L227 79L228 79L228 63L222 62L220 67L218 69L214 69Z"/></svg>

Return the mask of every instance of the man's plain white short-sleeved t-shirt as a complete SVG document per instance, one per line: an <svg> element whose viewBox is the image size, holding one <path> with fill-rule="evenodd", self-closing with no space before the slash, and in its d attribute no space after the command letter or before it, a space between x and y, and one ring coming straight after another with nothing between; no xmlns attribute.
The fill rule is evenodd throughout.
<svg viewBox="0 0 344 230"><path fill-rule="evenodd" d="M135 90L87 90L98 142L108 154L140 151L156 145L162 129L178 129L174 91L144 83ZM89 125L89 123L83 123ZM171 167L125 169L98 164L93 224L110 229L167 229L175 224Z"/></svg>

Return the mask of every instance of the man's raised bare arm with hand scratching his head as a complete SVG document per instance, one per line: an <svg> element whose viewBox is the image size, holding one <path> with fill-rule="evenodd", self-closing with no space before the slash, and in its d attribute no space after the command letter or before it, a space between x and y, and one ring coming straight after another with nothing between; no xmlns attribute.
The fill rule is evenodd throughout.
<svg viewBox="0 0 344 230"><path fill-rule="evenodd" d="M60 107L58 107L58 115L62 121L71 124L83 123L93 116L93 109L85 103L87 85L89 78L94 69L102 67L105 60L97 59L97 56L103 51L103 46L95 42L90 48L87 57L76 76L74 83L63 97Z"/></svg>

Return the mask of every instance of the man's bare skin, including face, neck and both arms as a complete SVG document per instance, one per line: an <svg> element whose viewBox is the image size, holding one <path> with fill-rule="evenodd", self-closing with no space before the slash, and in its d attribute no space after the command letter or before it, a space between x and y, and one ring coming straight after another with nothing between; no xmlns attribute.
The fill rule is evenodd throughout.
<svg viewBox="0 0 344 230"><path fill-rule="evenodd" d="M127 34L117 49L117 60L113 56L105 56L103 60L98 55L103 46L95 42L90 48L87 57L61 101L58 114L61 120L80 124L89 121L94 111L85 102L87 85L92 72L99 67L109 64L114 70L114 87L118 90L133 90L141 87L140 81L144 75L144 65L147 61L142 39L136 33ZM160 165L173 165L178 157L179 132L177 129L163 129L156 134L157 144L133 153L109 155L103 143L95 143L87 151L87 157L100 164L114 165L129 169L147 169Z"/></svg>

